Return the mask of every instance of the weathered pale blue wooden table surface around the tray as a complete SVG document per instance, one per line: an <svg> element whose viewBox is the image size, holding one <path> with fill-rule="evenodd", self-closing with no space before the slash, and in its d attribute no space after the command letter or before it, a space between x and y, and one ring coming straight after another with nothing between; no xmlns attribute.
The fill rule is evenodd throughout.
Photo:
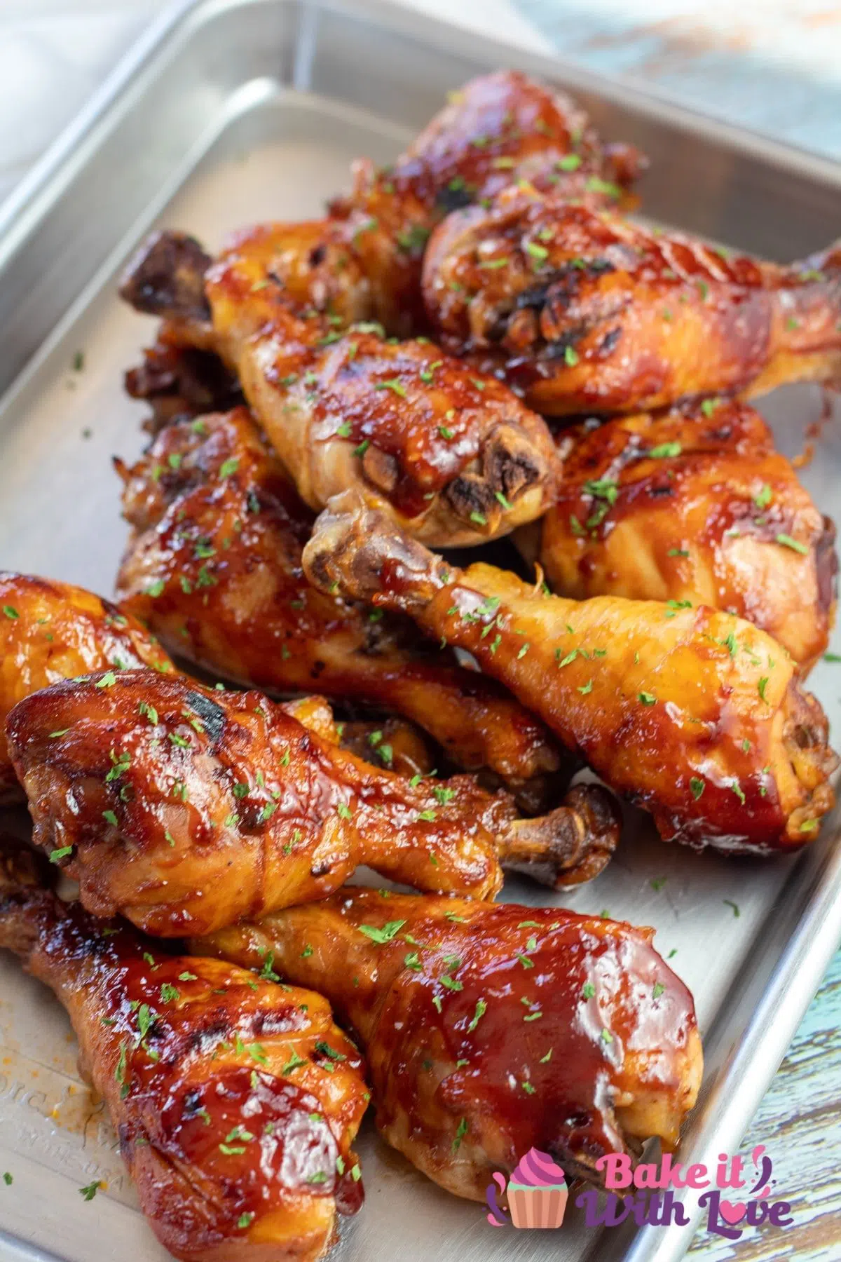
<svg viewBox="0 0 841 1262"><path fill-rule="evenodd" d="M0 0L0 199L163 3ZM841 158L841 3L835 0L403 3L514 44L555 48ZM767 1145L775 1194L792 1203L794 1222L784 1230L746 1229L735 1243L701 1232L692 1262L791 1256L840 1262L840 1026L841 953L741 1147Z"/></svg>

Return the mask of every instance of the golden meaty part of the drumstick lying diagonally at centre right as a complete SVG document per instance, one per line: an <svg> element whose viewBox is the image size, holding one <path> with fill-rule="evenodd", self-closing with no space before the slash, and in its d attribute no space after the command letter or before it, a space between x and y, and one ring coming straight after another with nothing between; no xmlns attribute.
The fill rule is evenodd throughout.
<svg viewBox="0 0 841 1262"><path fill-rule="evenodd" d="M509 681L523 703L531 700L612 787L652 811L664 837L734 851L789 848L813 839L816 819L831 805L832 794L820 766L806 769L802 787L789 782L783 726L791 727L791 711L796 726L815 729L808 743L820 745L826 741L826 719L815 698L798 692L793 665L780 646L770 639L760 641L749 623L704 606L670 610L633 602L610 617L610 606L601 603L609 598L596 597L586 604L565 602L556 611L560 635L554 645L546 639L545 618L531 621L526 608L521 617L512 606L508 634L490 654L488 640L493 639L482 639L487 618L478 615L487 601L484 584L477 589L470 581L475 570L482 579L483 569L472 567L465 586L454 584L436 597L427 620L443 617L450 644L468 649L484 670ZM445 606L456 612L448 617ZM738 664L728 647L730 636L735 636ZM525 666L517 659L523 639L530 642ZM604 656L594 658L594 651ZM572 652L576 656L561 666ZM759 692L760 679L767 680L767 699ZM526 690L518 689L521 680ZM794 753L797 737L787 736ZM786 785L784 804L778 775ZM699 798L692 780L702 786ZM813 789L820 791L817 815L811 810Z"/></svg>

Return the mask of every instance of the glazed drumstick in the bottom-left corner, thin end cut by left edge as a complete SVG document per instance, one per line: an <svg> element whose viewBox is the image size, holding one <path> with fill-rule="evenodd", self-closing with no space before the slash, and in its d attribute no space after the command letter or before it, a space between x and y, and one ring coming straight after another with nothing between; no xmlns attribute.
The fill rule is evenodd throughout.
<svg viewBox="0 0 841 1262"><path fill-rule="evenodd" d="M0 945L53 989L155 1235L183 1262L314 1262L362 1204L362 1060L320 994L163 954L0 856ZM338 1171L342 1171L340 1174Z"/></svg>

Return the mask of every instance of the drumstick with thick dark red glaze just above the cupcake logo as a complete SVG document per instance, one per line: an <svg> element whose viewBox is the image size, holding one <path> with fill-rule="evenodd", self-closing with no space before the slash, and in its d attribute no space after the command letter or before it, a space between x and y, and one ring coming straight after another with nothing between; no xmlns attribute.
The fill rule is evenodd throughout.
<svg viewBox="0 0 841 1262"><path fill-rule="evenodd" d="M595 1179L604 1153L677 1142L701 1042L652 936L557 907L348 890L195 949L316 986L366 1047L387 1142L484 1200L532 1146Z"/></svg>

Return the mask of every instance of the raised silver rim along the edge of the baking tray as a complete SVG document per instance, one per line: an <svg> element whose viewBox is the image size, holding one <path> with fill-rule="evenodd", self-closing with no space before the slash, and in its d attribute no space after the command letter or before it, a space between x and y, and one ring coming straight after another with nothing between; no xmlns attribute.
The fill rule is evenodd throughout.
<svg viewBox="0 0 841 1262"><path fill-rule="evenodd" d="M391 0L173 0L117 62L18 188L0 203L0 274L11 259L25 251L28 237L83 169L88 153L116 124L121 101L139 77L148 68L154 68L166 53L169 42L188 35L190 24L211 20L221 10L262 4L282 6L300 18L293 40L291 80L285 83L280 71L277 76L277 82L285 86L306 87L308 45L311 48L311 40L316 38L318 20L325 14L338 13L366 19L430 47L444 45L463 52L490 66L514 64L538 77L560 81L572 93L586 92L642 116L662 120L663 115L668 115L670 122L686 131L690 140L695 138L724 145L730 151L763 159L841 191L841 163L821 154L688 109L670 93L639 88L625 77L603 76L561 57L512 48L504 40L474 34L448 20L397 6ZM59 317L59 324L66 316ZM34 351L34 357L39 356L42 347L43 343ZM32 357L10 385L6 399L15 392L30 366ZM740 973L722 998L705 1039L707 1058L711 1049L721 1054L719 1044L729 1045L729 1051L712 1079L705 1082L701 1100L682 1136L681 1151L692 1161L704 1161L707 1166L714 1165L721 1147L726 1151L738 1148L832 954L841 944L841 808L836 808L827 822L825 835L798 858L782 896L769 907L757 940L764 940L765 933L784 945L774 954L773 941L765 944L757 963ZM767 976L763 977L765 965ZM729 1040L726 1018L740 1001L750 1003L749 1017L741 1036L734 1042ZM690 1222L686 1227L619 1229L606 1239L604 1233L599 1233L594 1238L599 1262L678 1262L690 1247L701 1217L700 1210L687 1209ZM0 1246L4 1243L13 1244L21 1258L43 1258L47 1262L53 1257L45 1251L33 1251L26 1241L0 1229ZM581 1262L590 1262L590 1258L595 1258L593 1247L585 1251Z"/></svg>

